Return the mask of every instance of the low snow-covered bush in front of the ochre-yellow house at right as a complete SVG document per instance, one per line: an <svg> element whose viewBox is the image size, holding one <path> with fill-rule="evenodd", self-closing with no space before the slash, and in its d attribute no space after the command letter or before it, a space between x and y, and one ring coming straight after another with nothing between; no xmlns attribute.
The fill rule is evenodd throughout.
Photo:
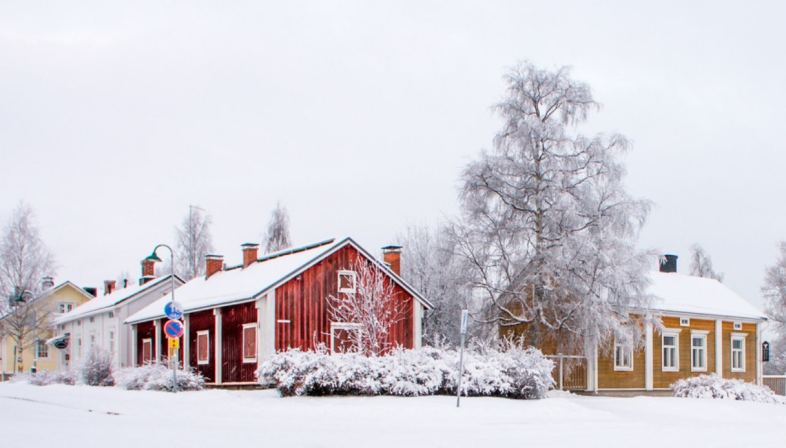
<svg viewBox="0 0 786 448"><path fill-rule="evenodd" d="M681 379L672 385L672 389L675 397L682 398L717 398L786 404L785 398L775 395L768 387L741 380L723 379L715 374Z"/></svg>

